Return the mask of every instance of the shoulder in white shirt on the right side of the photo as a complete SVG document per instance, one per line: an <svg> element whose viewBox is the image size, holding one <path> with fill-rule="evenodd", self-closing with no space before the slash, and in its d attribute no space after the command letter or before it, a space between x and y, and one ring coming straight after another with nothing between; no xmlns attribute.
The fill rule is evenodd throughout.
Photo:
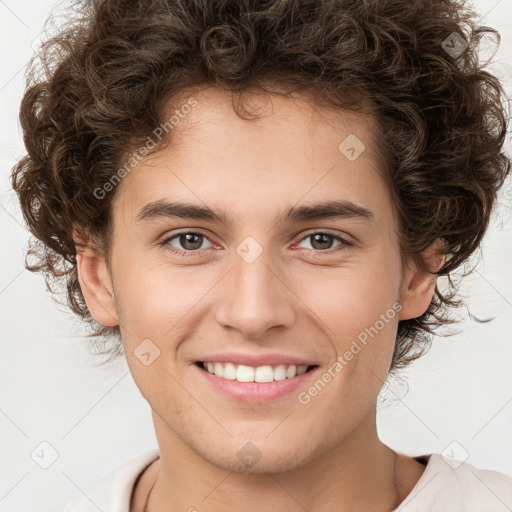
<svg viewBox="0 0 512 512"><path fill-rule="evenodd" d="M440 453L424 455L427 466L396 512L505 512L512 509L512 477Z"/></svg>

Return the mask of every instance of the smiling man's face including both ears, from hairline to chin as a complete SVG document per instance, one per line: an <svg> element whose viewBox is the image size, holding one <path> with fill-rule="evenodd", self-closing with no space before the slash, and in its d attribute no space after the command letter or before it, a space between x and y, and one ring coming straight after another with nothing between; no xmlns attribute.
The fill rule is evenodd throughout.
<svg viewBox="0 0 512 512"><path fill-rule="evenodd" d="M402 267L368 119L254 96L260 117L243 120L225 92L193 97L169 147L123 178L111 274L100 260L94 281L85 256L82 288L100 323L120 325L159 444L231 471L298 468L372 417L398 321L433 283ZM285 367L249 383L204 361ZM313 368L283 379L291 362Z"/></svg>

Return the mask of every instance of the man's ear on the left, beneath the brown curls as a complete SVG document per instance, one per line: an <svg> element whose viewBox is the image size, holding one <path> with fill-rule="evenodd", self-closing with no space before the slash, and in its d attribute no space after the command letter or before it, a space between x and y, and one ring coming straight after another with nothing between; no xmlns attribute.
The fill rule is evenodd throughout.
<svg viewBox="0 0 512 512"><path fill-rule="evenodd" d="M103 254L91 247L91 240L74 231L78 281L94 320L106 327L119 324L112 281Z"/></svg>

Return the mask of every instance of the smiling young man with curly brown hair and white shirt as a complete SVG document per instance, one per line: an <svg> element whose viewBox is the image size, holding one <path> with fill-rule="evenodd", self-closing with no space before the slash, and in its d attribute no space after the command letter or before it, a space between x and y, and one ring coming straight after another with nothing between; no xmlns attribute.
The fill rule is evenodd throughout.
<svg viewBox="0 0 512 512"><path fill-rule="evenodd" d="M459 7L106 0L50 42L13 171L31 268L117 341L159 446L66 512L512 507L376 429L510 168Z"/></svg>

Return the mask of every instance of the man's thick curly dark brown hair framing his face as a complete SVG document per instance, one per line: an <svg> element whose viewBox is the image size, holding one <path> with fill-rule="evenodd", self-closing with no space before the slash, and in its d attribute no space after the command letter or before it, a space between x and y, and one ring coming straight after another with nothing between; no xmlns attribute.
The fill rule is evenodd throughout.
<svg viewBox="0 0 512 512"><path fill-rule="evenodd" d="M76 6L79 15L45 42L30 67L20 109L27 155L13 168L12 185L37 239L26 267L44 273L52 292L52 284L65 285L89 336L115 339L101 353L123 353L120 331L97 324L88 311L73 227L90 234L108 261L116 190L101 198L95 190L164 122L181 92L217 85L233 97L282 94L271 86L299 90L333 110L371 105L402 255L423 265L421 251L438 238L445 242L436 273L450 286L437 285L425 314L399 323L390 371L422 355L433 329L450 321L448 306L460 302L452 272L479 247L510 171L501 151L504 91L478 59L482 36L499 42L499 33L477 26L465 2L450 0Z"/></svg>

